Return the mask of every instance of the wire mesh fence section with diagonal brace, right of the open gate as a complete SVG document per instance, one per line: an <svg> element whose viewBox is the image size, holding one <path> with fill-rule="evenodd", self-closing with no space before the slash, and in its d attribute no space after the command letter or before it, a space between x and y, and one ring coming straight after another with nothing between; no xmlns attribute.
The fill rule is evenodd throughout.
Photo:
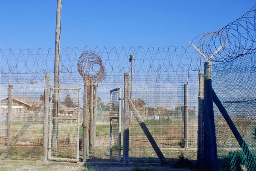
<svg viewBox="0 0 256 171"><path fill-rule="evenodd" d="M163 155L172 162L181 155L197 159L198 78L197 75L190 76L195 82L188 83L188 150L184 148L184 84L187 82L146 83L146 80L151 79L148 75L134 79L133 104ZM131 161L159 162L151 143L133 115L129 138Z"/></svg>

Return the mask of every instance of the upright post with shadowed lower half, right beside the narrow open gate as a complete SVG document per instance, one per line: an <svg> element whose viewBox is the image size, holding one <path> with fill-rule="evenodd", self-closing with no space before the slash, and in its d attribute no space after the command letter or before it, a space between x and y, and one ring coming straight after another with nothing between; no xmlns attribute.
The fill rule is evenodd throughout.
<svg viewBox="0 0 256 171"><path fill-rule="evenodd" d="M130 75L125 73L124 81L124 148L123 148L123 162L129 161L129 95L130 95Z"/></svg>

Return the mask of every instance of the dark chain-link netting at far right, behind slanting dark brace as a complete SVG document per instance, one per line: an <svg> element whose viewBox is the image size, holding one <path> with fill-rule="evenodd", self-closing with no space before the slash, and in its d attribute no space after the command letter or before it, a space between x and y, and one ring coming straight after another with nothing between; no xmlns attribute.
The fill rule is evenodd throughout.
<svg viewBox="0 0 256 171"><path fill-rule="evenodd" d="M224 117L214 106L219 170L238 171L247 168L253 171L256 167L255 54L212 65L212 88L252 154L248 156L244 153Z"/></svg>

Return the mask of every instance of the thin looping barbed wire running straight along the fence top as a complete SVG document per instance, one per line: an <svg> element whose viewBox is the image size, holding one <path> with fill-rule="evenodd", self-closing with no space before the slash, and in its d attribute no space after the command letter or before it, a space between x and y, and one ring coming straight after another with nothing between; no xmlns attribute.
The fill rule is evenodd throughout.
<svg viewBox="0 0 256 171"><path fill-rule="evenodd" d="M188 51L190 50L190 51ZM130 72L129 55L134 54L134 72L177 72L198 70L198 54L189 46L169 47L77 47L60 50L60 73L78 73L82 52L96 52L107 72ZM55 49L7 49L1 54L1 72L7 74L53 73Z"/></svg>

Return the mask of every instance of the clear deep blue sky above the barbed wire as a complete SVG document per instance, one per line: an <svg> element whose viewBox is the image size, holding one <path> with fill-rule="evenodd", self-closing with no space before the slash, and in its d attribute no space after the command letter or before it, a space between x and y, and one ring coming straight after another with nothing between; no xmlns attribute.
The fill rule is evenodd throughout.
<svg viewBox="0 0 256 171"><path fill-rule="evenodd" d="M62 0L61 47L189 46L255 0ZM2 0L0 49L55 47L57 0Z"/></svg>

